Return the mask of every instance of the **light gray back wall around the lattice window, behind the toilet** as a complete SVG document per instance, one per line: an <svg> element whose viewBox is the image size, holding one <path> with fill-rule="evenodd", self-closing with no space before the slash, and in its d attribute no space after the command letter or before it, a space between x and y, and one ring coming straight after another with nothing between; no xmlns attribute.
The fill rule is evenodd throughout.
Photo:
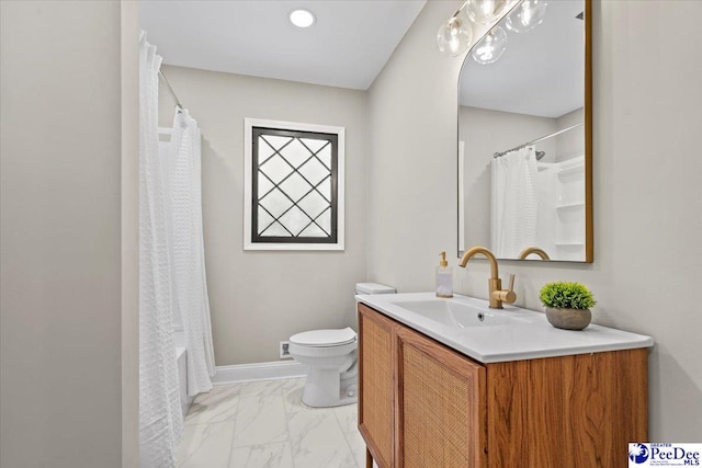
<svg viewBox="0 0 702 468"><path fill-rule="evenodd" d="M158 44L157 44L158 46ZM162 67L203 135L203 222L218 366L278 361L279 342L320 328L355 328L353 287L365 281L366 93ZM172 123L172 99L159 100ZM244 251L244 118L346 127L346 251Z"/></svg>

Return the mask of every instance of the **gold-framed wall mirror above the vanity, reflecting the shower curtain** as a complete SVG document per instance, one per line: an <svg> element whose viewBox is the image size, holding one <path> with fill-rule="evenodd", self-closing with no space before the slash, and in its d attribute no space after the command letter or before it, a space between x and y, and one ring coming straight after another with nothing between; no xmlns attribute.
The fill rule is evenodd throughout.
<svg viewBox="0 0 702 468"><path fill-rule="evenodd" d="M458 79L458 256L592 262L591 0L523 0Z"/></svg>

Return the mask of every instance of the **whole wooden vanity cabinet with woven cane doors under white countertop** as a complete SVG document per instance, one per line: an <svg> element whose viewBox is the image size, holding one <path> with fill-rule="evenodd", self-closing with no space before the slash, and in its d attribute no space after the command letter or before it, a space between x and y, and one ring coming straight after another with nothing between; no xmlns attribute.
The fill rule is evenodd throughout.
<svg viewBox="0 0 702 468"><path fill-rule="evenodd" d="M482 364L363 304L359 327L381 468L626 467L647 441L647 349Z"/></svg>

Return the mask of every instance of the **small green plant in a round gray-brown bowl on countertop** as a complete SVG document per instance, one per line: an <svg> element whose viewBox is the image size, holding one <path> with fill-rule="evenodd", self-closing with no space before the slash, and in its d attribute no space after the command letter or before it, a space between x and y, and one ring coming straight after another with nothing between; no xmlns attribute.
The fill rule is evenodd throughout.
<svg viewBox="0 0 702 468"><path fill-rule="evenodd" d="M590 289L580 283L547 283L539 294L541 304L546 307L548 322L564 330L582 330L590 324L595 298Z"/></svg>

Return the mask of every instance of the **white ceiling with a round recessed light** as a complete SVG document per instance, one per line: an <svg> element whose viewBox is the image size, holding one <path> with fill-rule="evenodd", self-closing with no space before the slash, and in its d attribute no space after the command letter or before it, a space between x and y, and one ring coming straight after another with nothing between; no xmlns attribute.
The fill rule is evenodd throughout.
<svg viewBox="0 0 702 468"><path fill-rule="evenodd" d="M139 23L167 65L365 90L424 3L147 0ZM312 27L290 23L298 8L316 15Z"/></svg>

